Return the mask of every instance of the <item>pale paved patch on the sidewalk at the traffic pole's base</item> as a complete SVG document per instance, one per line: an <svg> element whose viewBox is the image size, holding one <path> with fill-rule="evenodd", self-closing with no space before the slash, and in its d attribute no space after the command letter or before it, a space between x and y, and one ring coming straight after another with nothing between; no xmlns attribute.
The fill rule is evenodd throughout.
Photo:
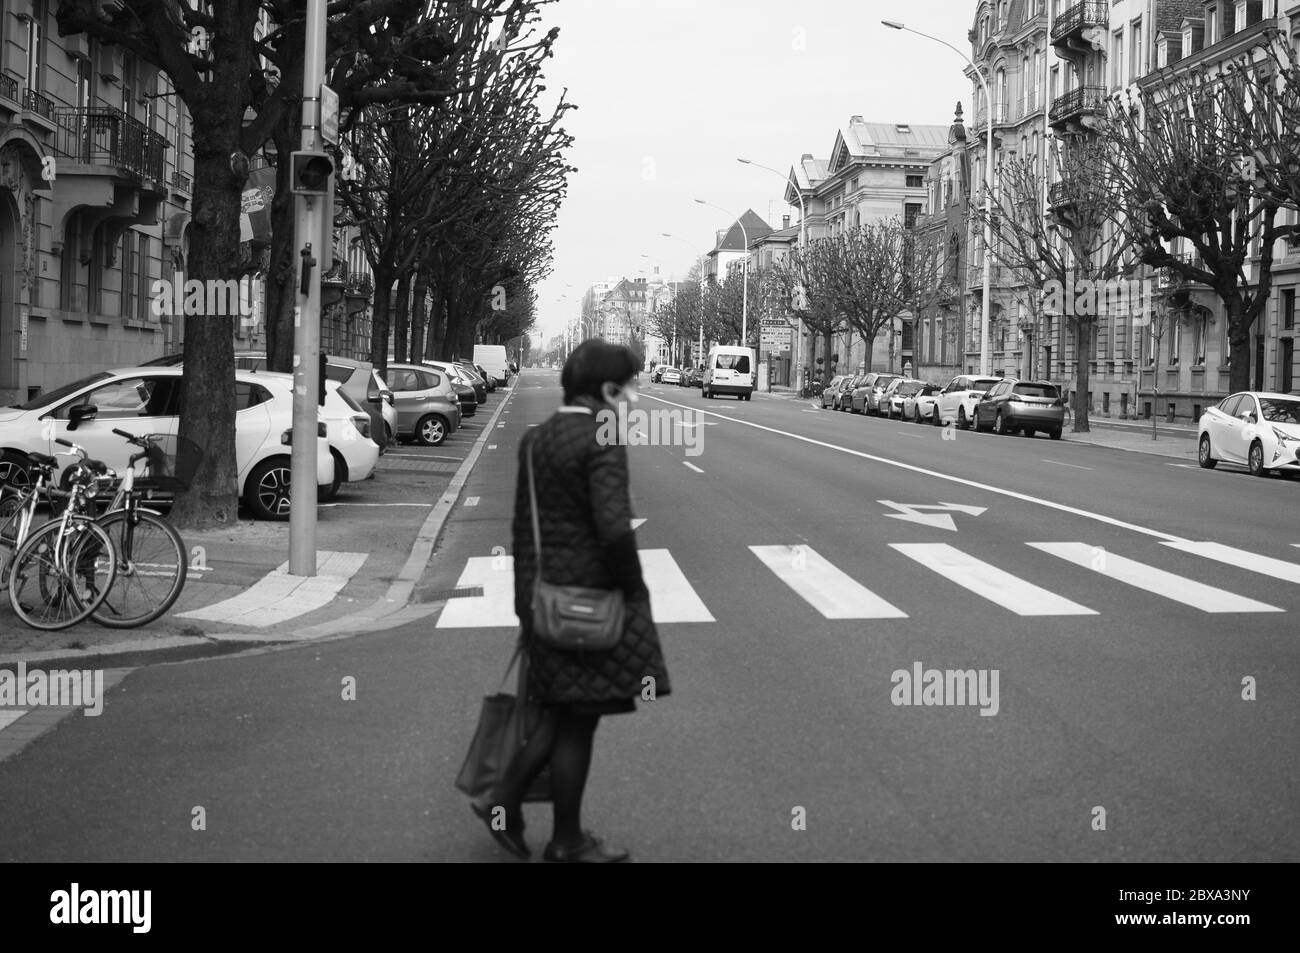
<svg viewBox="0 0 1300 953"><path fill-rule="evenodd" d="M265 628L322 608L347 585L365 562L365 553L317 553L315 576L291 576L281 563L252 586L229 599L181 612L177 619L202 619Z"/></svg>

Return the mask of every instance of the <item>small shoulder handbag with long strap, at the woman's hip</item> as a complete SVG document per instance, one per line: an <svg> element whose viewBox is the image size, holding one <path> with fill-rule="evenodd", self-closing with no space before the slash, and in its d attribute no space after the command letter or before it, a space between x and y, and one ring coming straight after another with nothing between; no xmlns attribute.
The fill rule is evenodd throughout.
<svg viewBox="0 0 1300 953"><path fill-rule="evenodd" d="M624 605L620 589L551 585L542 580L542 530L537 519L537 484L533 447L528 447L528 502L533 512L533 632L554 649L604 651L623 636Z"/></svg>

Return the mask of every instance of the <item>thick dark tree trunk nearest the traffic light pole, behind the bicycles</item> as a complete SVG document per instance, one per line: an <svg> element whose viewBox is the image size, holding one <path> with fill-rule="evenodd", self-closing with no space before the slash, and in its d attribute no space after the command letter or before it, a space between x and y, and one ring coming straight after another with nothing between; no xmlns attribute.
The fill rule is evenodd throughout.
<svg viewBox="0 0 1300 953"><path fill-rule="evenodd" d="M216 109L214 109L216 112ZM224 113L237 114L234 111ZM216 124L208 125L211 129ZM240 189L244 177L231 170L228 146L238 140L238 124L224 135L195 137L194 208L186 280L225 281L233 277L239 247ZM203 451L188 493L178 495L172 521L199 529L238 520L235 463L235 356L230 315L186 315L185 397L179 436Z"/></svg>

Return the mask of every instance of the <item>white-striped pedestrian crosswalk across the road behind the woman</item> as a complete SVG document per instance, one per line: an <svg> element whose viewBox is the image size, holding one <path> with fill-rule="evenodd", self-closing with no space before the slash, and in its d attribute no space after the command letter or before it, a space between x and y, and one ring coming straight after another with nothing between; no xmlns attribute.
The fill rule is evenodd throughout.
<svg viewBox="0 0 1300 953"><path fill-rule="evenodd" d="M1138 589L1160 599L1208 612L1284 612L1286 610L1249 598L1230 589L1210 585L1188 576L1152 566L1122 553L1082 541L1027 542L1031 550L1096 573L1118 584L1117 592ZM1227 564L1270 580L1300 584L1300 563L1234 549L1214 542L1164 542L1179 553L1201 556L1212 563ZM1294 543L1300 547L1300 543ZM1097 595L1082 605L1061 593L1010 572L1004 566L975 556L949 543L890 543L874 547L878 559L889 554L911 560L932 576L927 585L889 598L871 590L855 579L845 563L827 558L806 545L749 546L758 564L771 572L775 581L798 597L805 611L823 619L907 619L936 598L950 601L965 590L979 601L992 603L1018 616L1097 616L1114 603L1115 595L1098 588ZM659 624L716 621L697 586L666 549L640 551L641 571L650 590L650 607ZM1018 564L1023 564L1019 563ZM1045 567L1046 568L1046 567ZM1216 567L1213 572L1219 572ZM716 579L716 576L711 576ZM732 579L727 573L724 579ZM946 589L935 586L950 584ZM506 555L472 556L456 581L458 589L476 594L448 599L438 618L437 628L515 627L514 560ZM477 594L481 592L481 594ZM784 592L780 588L776 592ZM937 594L936 594L937 593ZM1282 594L1279 598L1282 601Z"/></svg>

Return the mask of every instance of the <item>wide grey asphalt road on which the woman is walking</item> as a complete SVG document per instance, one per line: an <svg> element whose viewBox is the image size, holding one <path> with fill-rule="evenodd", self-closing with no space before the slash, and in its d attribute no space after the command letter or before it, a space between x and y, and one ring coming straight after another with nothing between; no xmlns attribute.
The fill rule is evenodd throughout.
<svg viewBox="0 0 1300 953"><path fill-rule="evenodd" d="M558 374L516 387L424 592L508 584ZM602 723L589 827L641 861L1300 859L1300 482L642 394L706 415L666 432L698 454L630 450L655 614L684 621L673 693ZM452 788L511 651L491 602L136 671L0 763L0 859L508 859ZM996 671L996 714L896 705L916 663Z"/></svg>

